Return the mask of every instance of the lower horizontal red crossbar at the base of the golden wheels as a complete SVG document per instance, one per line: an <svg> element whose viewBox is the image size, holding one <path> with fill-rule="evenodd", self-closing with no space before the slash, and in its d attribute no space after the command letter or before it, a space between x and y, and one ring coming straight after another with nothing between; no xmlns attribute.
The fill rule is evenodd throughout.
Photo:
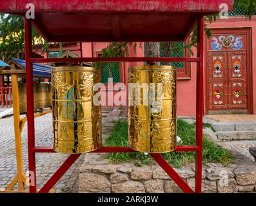
<svg viewBox="0 0 256 206"><path fill-rule="evenodd" d="M197 151L198 147L195 145L182 145L177 146L175 152L189 152L189 151ZM32 150L34 153L55 153L52 147L34 147ZM137 153L130 147L101 147L101 149L97 149L92 151L92 153Z"/></svg>

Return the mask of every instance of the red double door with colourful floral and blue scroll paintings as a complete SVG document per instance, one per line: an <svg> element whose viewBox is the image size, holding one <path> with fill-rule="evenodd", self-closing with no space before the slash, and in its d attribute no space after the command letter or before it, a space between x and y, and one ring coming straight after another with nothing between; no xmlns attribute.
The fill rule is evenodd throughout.
<svg viewBox="0 0 256 206"><path fill-rule="evenodd" d="M207 40L206 113L251 113L250 30L212 30Z"/></svg>

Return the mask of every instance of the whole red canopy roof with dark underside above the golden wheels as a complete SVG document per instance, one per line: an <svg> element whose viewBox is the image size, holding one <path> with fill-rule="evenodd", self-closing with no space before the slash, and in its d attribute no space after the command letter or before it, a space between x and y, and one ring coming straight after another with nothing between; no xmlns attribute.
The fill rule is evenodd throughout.
<svg viewBox="0 0 256 206"><path fill-rule="evenodd" d="M233 0L8 0L0 11L25 15L35 5L34 26L52 42L183 41L199 15L217 14Z"/></svg>

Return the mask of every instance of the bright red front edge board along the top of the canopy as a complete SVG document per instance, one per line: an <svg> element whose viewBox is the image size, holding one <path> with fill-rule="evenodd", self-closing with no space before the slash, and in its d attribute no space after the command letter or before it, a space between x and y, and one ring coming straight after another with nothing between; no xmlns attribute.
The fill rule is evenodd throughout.
<svg viewBox="0 0 256 206"><path fill-rule="evenodd" d="M1 1L0 11L5 12L26 12L26 4L33 3L37 12L208 12L216 14L219 12L219 5L226 3L230 11L233 0L12 0ZM71 6L72 5L72 6Z"/></svg>

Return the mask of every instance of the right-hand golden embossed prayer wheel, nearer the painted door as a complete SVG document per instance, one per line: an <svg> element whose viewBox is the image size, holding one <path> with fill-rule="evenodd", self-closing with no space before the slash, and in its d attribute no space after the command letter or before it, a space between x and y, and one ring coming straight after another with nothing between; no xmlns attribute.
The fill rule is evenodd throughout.
<svg viewBox="0 0 256 206"><path fill-rule="evenodd" d="M176 70L136 66L128 77L129 145L135 151L166 153L176 147Z"/></svg>

